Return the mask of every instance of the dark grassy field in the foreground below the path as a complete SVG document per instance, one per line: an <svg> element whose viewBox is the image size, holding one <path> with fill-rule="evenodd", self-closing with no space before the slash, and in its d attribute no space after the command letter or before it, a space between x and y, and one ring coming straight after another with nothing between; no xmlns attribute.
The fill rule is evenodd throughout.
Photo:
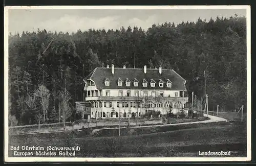
<svg viewBox="0 0 256 166"><path fill-rule="evenodd" d="M92 129L91 129L92 130ZM10 146L79 146L77 157L185 157L198 151L231 151L246 155L246 125L226 122L153 128L90 130L51 134L13 135ZM9 154L11 154L9 152Z"/></svg>

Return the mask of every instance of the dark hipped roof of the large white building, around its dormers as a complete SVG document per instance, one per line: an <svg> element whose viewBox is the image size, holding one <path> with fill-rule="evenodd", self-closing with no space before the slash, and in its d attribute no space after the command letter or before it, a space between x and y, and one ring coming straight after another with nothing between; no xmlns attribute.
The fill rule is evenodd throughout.
<svg viewBox="0 0 256 166"><path fill-rule="evenodd" d="M160 88L158 85L156 87L147 86L146 89L168 89L168 90L184 90L186 91L185 82L186 80L183 79L179 74L177 74L173 69L162 69L162 74L159 74L158 69L147 69L146 74L143 72L143 68L114 68L115 72L114 75L111 73L111 67L97 67L93 70L90 75L86 77L86 79L91 79L95 82L98 89L145 89L142 87L142 81L145 79L147 82L150 82L151 79L158 80L165 80L168 79L172 81L172 87L164 87ZM104 81L108 78L110 80L110 86L105 86ZM138 80L139 86L135 87L133 84L131 86L118 86L117 82L118 79L125 80L126 78L129 80Z"/></svg>

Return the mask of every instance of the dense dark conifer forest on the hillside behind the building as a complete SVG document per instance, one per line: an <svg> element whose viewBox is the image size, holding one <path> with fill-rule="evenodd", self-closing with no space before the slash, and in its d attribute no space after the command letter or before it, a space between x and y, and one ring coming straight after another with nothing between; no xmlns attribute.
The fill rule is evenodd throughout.
<svg viewBox="0 0 256 166"><path fill-rule="evenodd" d="M83 100L83 78L95 67L174 69L188 96L204 96L209 109L246 105L246 18L164 22L77 32L9 34L9 122L29 125L68 120ZM92 27L93 28L93 27ZM191 99L189 99L191 100ZM65 111L66 110L66 111ZM48 120L49 118L49 120Z"/></svg>

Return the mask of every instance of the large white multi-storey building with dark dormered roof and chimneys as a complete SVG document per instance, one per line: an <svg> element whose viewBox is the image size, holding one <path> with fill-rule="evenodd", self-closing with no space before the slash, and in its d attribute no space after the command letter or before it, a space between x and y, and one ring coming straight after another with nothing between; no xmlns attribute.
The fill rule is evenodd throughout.
<svg viewBox="0 0 256 166"><path fill-rule="evenodd" d="M176 113L188 102L186 80L161 66L115 68L112 64L95 68L83 81L84 101L76 102L82 118L137 117L152 111L166 114L169 106Z"/></svg>

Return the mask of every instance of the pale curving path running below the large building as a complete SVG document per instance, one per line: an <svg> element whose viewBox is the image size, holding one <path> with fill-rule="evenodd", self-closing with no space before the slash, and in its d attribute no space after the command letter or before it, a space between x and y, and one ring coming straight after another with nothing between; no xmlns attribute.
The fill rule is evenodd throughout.
<svg viewBox="0 0 256 166"><path fill-rule="evenodd" d="M207 117L207 114L204 114L205 117ZM177 123L177 124L165 124L165 125L150 125L150 126L131 126L130 128L144 128L144 127L158 127L158 126L177 126L177 125L186 125L186 124L198 124L198 123L211 123L211 122L223 122L227 120L225 118L222 117L218 117L218 116L212 116L212 115L208 115L208 117L210 118L209 120L205 120L205 121L197 121L197 122L184 122L184 123ZM120 129L124 129L127 127L120 127ZM108 130L108 129L119 129L118 127L115 128L102 128L102 129L94 129L92 131L92 135L100 130Z"/></svg>

